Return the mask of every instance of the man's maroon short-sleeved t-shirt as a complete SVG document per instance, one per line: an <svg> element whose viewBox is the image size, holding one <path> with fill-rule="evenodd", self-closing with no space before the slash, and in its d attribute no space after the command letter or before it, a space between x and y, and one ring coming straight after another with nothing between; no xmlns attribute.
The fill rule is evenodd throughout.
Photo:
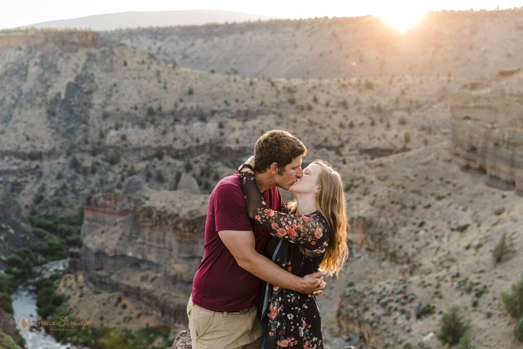
<svg viewBox="0 0 523 349"><path fill-rule="evenodd" d="M265 192L265 202L273 210L283 207L278 188ZM258 299L261 280L236 263L218 235L220 230L252 230L256 251L263 254L268 232L247 216L240 174L237 172L223 178L212 190L205 224L203 258L192 281L192 301L212 311L251 308Z"/></svg>

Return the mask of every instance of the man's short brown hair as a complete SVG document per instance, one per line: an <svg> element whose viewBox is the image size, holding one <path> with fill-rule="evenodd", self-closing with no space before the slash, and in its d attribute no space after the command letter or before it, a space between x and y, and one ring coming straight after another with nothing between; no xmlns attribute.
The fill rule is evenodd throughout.
<svg viewBox="0 0 523 349"><path fill-rule="evenodd" d="M284 130L270 130L258 138L254 145L254 171L265 172L273 162L281 175L285 166L297 156L307 155L307 148L296 137Z"/></svg>

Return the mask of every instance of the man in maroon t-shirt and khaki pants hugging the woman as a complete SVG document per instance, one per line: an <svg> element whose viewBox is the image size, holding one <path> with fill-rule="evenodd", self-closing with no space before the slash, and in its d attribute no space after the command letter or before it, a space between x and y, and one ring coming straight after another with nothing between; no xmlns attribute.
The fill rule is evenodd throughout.
<svg viewBox="0 0 523 349"><path fill-rule="evenodd" d="M303 175L306 154L303 143L287 131L272 130L256 141L256 182L271 209L284 206L277 187L287 190ZM221 179L209 199L204 254L187 304L194 349L260 347L260 279L309 295L325 288L323 273L301 278L265 257L267 237L268 232L247 216L238 172Z"/></svg>

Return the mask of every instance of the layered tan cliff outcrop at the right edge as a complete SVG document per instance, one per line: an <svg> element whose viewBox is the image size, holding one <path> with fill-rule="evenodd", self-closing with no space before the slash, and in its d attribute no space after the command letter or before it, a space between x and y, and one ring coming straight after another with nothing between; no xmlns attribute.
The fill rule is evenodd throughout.
<svg viewBox="0 0 523 349"><path fill-rule="evenodd" d="M523 190L523 72L467 84L450 106L458 163L484 171L492 184Z"/></svg>

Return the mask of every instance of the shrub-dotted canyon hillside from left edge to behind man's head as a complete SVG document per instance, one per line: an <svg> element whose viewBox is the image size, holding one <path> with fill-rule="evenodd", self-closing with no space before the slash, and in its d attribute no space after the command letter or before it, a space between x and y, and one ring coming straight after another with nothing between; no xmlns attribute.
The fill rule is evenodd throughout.
<svg viewBox="0 0 523 349"><path fill-rule="evenodd" d="M93 32L0 42L0 181L25 211L78 207L133 174L156 189L176 189L186 174L193 192L209 193L270 128L293 131L311 156L332 161L440 141L447 95L460 84L226 76L173 67Z"/></svg>

